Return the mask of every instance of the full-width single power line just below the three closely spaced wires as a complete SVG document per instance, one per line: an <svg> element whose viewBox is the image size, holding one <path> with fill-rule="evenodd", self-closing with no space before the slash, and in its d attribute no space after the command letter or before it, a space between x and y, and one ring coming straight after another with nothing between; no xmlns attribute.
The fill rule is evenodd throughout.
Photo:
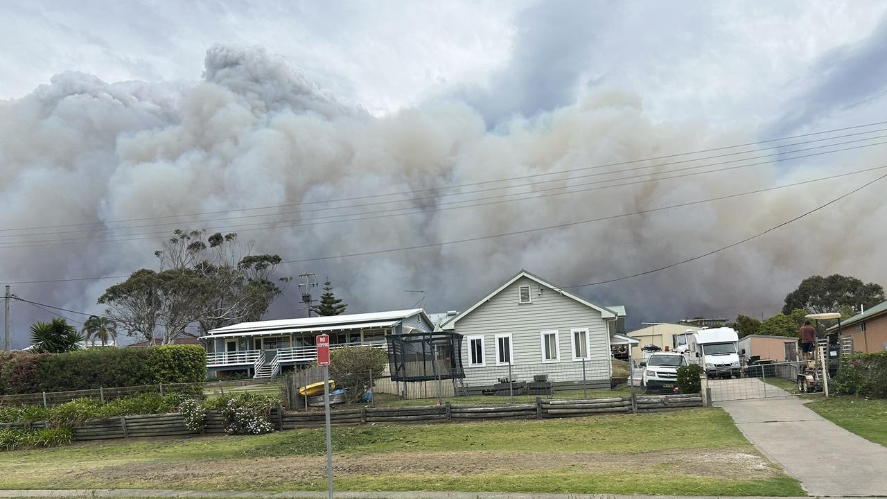
<svg viewBox="0 0 887 499"><path fill-rule="evenodd" d="M433 242L433 243L428 243L428 244L420 244L420 245L402 247L402 248L379 249L379 250L374 250L374 251L364 251L364 252L359 252L359 253L350 253L350 254L345 254L345 255L336 255L336 256L329 256L329 257L312 257L312 258L303 258L303 259L298 259L298 260L285 260L285 261L280 262L280 264L284 265L284 264L305 263L305 262L313 262L313 261L319 261L319 260L330 260L330 259L346 258L346 257L363 257L363 256L369 256L369 255L378 255L378 254L382 254L382 253L407 251L407 250L412 250L412 249L427 249L427 248L445 246L445 245L450 245L450 244L457 244L457 243L462 243L462 242L482 241L482 240L494 239L494 238L498 238L498 237L505 237L505 236L509 236L509 235L530 234L530 233L534 233L534 232L546 231L546 230L551 230L551 229L555 229L555 228L563 228L563 227L567 227L567 226L577 226L577 225L589 224L589 223L593 223L593 222L599 222L599 221L609 220L609 219L614 219L614 218L624 218L624 217L630 217L633 215L642 215L642 214L652 213L652 212L656 212L656 211L671 210L671 209L675 209L675 208L683 208L683 207L692 206L695 204L702 204L705 202L715 202L715 201L720 201L720 200L724 200L724 199L731 199L731 198L741 197L741 196L750 195L750 194L759 194L759 193L764 193L764 192L778 190L778 189L784 189L784 188L793 187L793 186L803 186L806 184L811 184L813 182L820 182L823 180L830 180L830 179L834 179L834 178L842 178L842 177L847 177L850 175L864 173L867 171L881 170L884 168L887 168L887 165L882 165L882 166L878 166L878 167L874 167L874 168L868 168L865 170L856 170L856 171L847 172L847 173L830 175L828 177L812 178L810 180L794 182L794 183L785 184L782 186L765 187L765 188L756 189L753 191L747 191L747 192L738 193L738 194L726 194L723 196L718 196L718 197L710 198L710 199L706 199L706 200L700 200L700 201L695 201L695 202L682 202L679 204L673 204L673 205L663 206L663 207L659 207L659 208L633 211L630 213L621 213L621 214L617 214L617 215L610 215L607 217L590 218L590 219L586 219L586 220L579 220L579 221L575 221L575 222L568 222L568 223L558 224L558 225L553 225L553 226L543 226L543 227L537 227L537 228L532 228L532 229L525 229L525 230L521 230L521 231L477 236L477 237L453 240L453 241L448 241L448 242ZM105 276L105 277L81 277L81 278L52 279L52 280L41 280L41 281L12 281L12 282L6 282L6 284L36 284L36 283L47 283L47 282L99 281L99 280L106 280L106 279L124 279L127 277L129 277L129 276L128 275L114 275L114 276Z"/></svg>

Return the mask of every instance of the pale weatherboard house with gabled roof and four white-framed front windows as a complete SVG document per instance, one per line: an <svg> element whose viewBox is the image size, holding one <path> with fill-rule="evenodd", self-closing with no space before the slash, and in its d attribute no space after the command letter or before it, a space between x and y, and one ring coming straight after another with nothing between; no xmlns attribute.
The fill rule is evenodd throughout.
<svg viewBox="0 0 887 499"><path fill-rule="evenodd" d="M554 389L581 384L585 364L585 385L609 388L610 345L636 343L616 335L621 315L521 271L441 328L463 337L469 392L489 390L508 377L509 363L512 380L547 375Z"/></svg>

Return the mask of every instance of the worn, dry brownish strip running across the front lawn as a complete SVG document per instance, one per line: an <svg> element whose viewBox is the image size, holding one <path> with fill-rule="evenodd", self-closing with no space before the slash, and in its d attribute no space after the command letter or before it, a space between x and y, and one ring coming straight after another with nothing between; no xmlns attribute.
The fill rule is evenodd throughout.
<svg viewBox="0 0 887 499"><path fill-rule="evenodd" d="M253 459L201 460L200 462L152 462L91 467L73 471L67 478L125 483L137 470L142 482L177 486L192 482L248 483L249 487L273 487L294 481L322 480L324 456L286 456ZM339 455L334 473L345 476L436 475L470 477L483 474L534 474L559 470L612 473L675 472L710 479L765 479L781 475L761 455L745 449L675 450L655 453L601 452L451 452L374 455Z"/></svg>

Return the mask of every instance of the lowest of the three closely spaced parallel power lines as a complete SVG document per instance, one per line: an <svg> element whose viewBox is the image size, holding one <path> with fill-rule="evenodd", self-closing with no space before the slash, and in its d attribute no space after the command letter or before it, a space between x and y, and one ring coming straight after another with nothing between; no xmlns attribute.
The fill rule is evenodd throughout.
<svg viewBox="0 0 887 499"><path fill-rule="evenodd" d="M887 137L887 136L884 136L884 137ZM775 158L773 160L768 160L768 161L764 161L764 162L753 162L753 163L748 163L748 164L741 164L741 165L735 165L735 166L731 166L731 167L720 168L720 169L716 169L716 170L705 170L705 171L694 171L694 172L682 173L679 175L673 175L671 177L647 178L647 179L637 180L637 181L632 181L632 182L624 182L622 184L612 184L612 185L608 185L608 186L597 186L598 184L603 183L603 182L614 182L614 181L631 179L631 178L648 177L650 175L663 175L663 174L674 173L677 171L684 171L684 170L697 170L700 168L707 168L710 166L718 166L721 164L728 164L728 163L733 163L733 162L748 161L749 159L756 159L756 158L743 158L741 160L731 160L731 161L727 161L727 162L710 163L710 164L697 165L697 166L685 167L685 168L674 169L674 170L667 170L667 171L663 171L663 172L650 172L650 173L643 173L640 175L633 175L633 176L623 177L623 178L610 178L610 179L604 179L604 180L599 180L599 181L594 181L594 182L586 182L583 184L576 184L576 185L572 185L572 186L548 187L545 189L538 189L536 191L529 192L529 193L499 194L499 195L487 196L487 197L482 197L482 198L475 198L472 200L455 201L455 202L440 202L436 205L435 208L428 209L428 210L415 210L415 211L406 211L403 213L391 213L393 211L402 211L402 210L410 210L411 209L410 207L404 207L404 208L396 208L396 209L391 209L391 210L370 211L370 212L365 212L365 213L352 213L352 214L343 214L343 215L333 215L333 216L328 216L328 217L315 217L312 219L318 220L318 219L325 219L325 218L340 218L340 217L355 217L355 216L360 216L360 215L373 215L375 213L389 213L388 215L379 216L379 217L346 218L346 219L338 219L338 220L327 220L326 222L310 222L310 223L301 223L301 224L300 223L290 224L290 222L299 222L300 221L297 219L296 220L277 220L277 221L258 222L258 223L254 223L254 224L241 224L239 226L227 226L227 227L220 226L220 227L208 228L205 230L207 230L207 231L236 230L238 232L250 232L250 231L256 231L256 230L266 231L266 230L274 230L274 229L285 228L285 227L290 228L290 227L298 227L298 226L319 226L319 225L326 225L328 223L345 223L345 222L362 221L362 220L368 220L368 219L374 219L374 218L389 218L389 217L401 216L401 215L425 214L425 213L428 213L429 211L459 210L459 209L464 209L464 208L475 208L477 206L498 204L499 202L525 201L525 200L529 200L529 199L538 199L538 198L548 197L548 196L552 196L552 195L577 194L577 193L584 193L584 192L595 191L595 190L600 190L600 189L608 189L608 188L613 188L613 187L632 186L632 185L637 185L637 184L645 184L645 183L649 183L649 182L658 182L661 180L671 180L674 178L694 177L696 175L717 173L720 171L728 171L728 170L738 170L738 169L742 169L742 168L749 168L752 166L770 164L772 162L786 162L786 161L792 161L792 160L803 159L803 158L808 158L808 157L820 156L823 154L833 154L833 153L837 153L837 152L855 150L855 149L860 149L860 148L865 148L865 147L880 146L883 144L887 144L887 141L877 142L875 144L865 144L865 145L854 146L854 147L844 147L844 148L836 149L833 151L821 151L818 153L800 154L800 155L792 156L792 157L788 157L788 158L784 158L784 157L783 158ZM818 147L813 147L813 148L818 148ZM799 151L792 151L792 152L799 152ZM782 153L782 154L786 154L786 153ZM770 155L773 155L773 154L767 154L765 156L758 156L758 157L767 157ZM561 191L564 189L570 189L570 188L581 187L581 186L596 186L596 187L570 190L570 191L564 191L564 192L552 192L552 191ZM540 194L540 193L549 193L549 194ZM536 194L536 195L529 195L526 197L514 198L514 199L502 199L502 198L505 198L508 196L526 195L526 194ZM462 203L471 203L471 202L487 201L487 200L499 200L499 201L480 202L480 203L474 203L474 204L462 204ZM451 206L451 205L456 205L456 204L459 204L459 206ZM271 226L265 226L267 224L271 224ZM290 224L290 225L281 226L281 224ZM262 226L262 227L245 228L245 229L239 228L239 227L249 227L249 226ZM119 235L111 235L111 236L108 236L105 238L84 238L84 239L69 238L69 239L51 239L51 240L43 240L43 241L6 242L6 243L0 243L0 249L35 248L35 247L43 247L43 246L59 246L59 245L78 244L78 243L87 243L87 242L138 241L138 240L153 239L152 236L162 235L162 234L169 234L169 233L164 231L164 232L157 232L157 233L119 234ZM19 235L27 236L27 235L35 235L35 234L16 234L16 235L17 236L19 236ZM146 237L138 237L138 236L146 236ZM0 237L3 237L3 236L0 236ZM114 239L114 238L120 238L120 239Z"/></svg>

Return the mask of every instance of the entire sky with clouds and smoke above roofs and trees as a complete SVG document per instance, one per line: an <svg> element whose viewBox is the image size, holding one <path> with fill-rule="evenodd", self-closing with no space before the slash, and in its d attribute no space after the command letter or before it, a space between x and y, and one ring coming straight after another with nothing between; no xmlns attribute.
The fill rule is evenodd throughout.
<svg viewBox="0 0 887 499"><path fill-rule="evenodd" d="M263 213L244 223L266 221L265 232L208 216L165 221L238 230L257 250L303 260L576 223L874 168L883 157L877 139L759 168L474 209L441 210L441 202L473 199L468 194L429 195L453 192L435 190L442 186L881 122L885 10L877 2L6 1L0 281L156 268L159 234L174 227L116 220ZM840 132L872 131L835 142L875 138L876 128ZM767 153L820 145L789 142ZM581 183L577 175L546 186ZM593 226L297 262L279 273L328 276L350 312L414 305L418 298L404 289L424 289L422 305L432 312L461 310L524 267L571 286L668 265L877 175ZM577 292L626 305L637 325L769 315L814 273L885 283L883 196L874 195L884 185L742 248ZM499 186L505 190L492 194L526 187ZM415 198L419 190L422 199L378 198L373 208L348 211L409 208L413 215L317 226L272 216L315 203L316 211L297 214L303 224L347 211L329 200ZM271 205L289 208L250 210ZM29 228L46 226L57 227ZM848 240L861 228L867 241ZM113 282L29 282L13 292L98 313L96 298ZM295 299L290 289L269 317L303 313ZM27 344L27 326L48 317L15 304L13 343Z"/></svg>

